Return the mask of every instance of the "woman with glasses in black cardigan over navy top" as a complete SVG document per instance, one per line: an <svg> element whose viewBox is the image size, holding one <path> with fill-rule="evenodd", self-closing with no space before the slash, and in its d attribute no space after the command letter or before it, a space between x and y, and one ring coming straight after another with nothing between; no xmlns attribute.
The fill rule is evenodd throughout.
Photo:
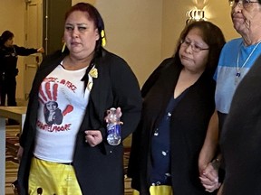
<svg viewBox="0 0 261 195"><path fill-rule="evenodd" d="M145 82L128 168L134 194L208 194L198 179L198 153L215 109L213 74L224 44L218 26L190 23L173 57Z"/></svg>

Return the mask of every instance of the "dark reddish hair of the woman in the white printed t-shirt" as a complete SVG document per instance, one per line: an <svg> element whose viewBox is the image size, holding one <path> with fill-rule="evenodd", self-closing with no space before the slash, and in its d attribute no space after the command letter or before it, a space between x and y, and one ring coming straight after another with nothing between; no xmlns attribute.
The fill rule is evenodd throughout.
<svg viewBox="0 0 261 195"><path fill-rule="evenodd" d="M65 14L65 20L75 11L81 11L86 13L89 20L93 21L95 27L98 29L100 34L100 39L96 42L96 51L100 50L102 47L102 37L101 32L104 31L104 23L102 20L102 15L98 12L98 10L91 4L88 3L78 3L73 5L71 9ZM104 35L105 36L105 35Z"/></svg>

